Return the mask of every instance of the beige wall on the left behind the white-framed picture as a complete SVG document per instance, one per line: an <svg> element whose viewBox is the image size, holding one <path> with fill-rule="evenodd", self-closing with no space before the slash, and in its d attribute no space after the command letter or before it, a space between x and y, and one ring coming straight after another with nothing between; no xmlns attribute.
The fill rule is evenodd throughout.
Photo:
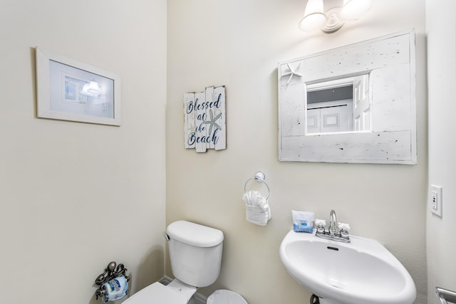
<svg viewBox="0 0 456 304"><path fill-rule="evenodd" d="M165 0L0 1L1 303L101 303L163 275ZM122 77L121 127L36 118L41 46Z"/></svg>

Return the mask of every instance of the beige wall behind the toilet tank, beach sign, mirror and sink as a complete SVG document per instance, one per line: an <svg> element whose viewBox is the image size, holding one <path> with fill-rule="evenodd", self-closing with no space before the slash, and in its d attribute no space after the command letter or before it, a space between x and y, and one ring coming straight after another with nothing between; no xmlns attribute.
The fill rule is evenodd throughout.
<svg viewBox="0 0 456 304"><path fill-rule="evenodd" d="M168 0L167 224L187 219L224 231L222 273L201 293L228 288L249 304L304 303L310 293L284 270L279 244L291 209L326 219L335 209L353 234L378 239L400 259L417 285L416 303L426 303L425 1L374 1L358 23L313 36L297 28L305 3ZM278 162L277 63L410 28L417 33L418 165ZM197 154L184 149L183 94L209 85L227 88L227 150ZM259 170L271 187L266 227L245 221L241 199Z"/></svg>

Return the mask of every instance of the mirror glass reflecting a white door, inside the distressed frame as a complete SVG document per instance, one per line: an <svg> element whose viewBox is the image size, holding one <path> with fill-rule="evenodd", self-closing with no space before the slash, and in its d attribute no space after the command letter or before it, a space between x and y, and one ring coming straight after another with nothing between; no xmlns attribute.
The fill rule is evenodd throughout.
<svg viewBox="0 0 456 304"><path fill-rule="evenodd" d="M307 85L306 134L371 130L369 75Z"/></svg>

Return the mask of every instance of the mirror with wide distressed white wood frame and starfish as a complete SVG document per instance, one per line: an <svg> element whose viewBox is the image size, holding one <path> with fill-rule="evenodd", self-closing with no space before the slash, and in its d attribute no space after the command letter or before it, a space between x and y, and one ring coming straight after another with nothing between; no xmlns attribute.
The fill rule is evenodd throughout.
<svg viewBox="0 0 456 304"><path fill-rule="evenodd" d="M279 160L416 164L415 31L279 63Z"/></svg>

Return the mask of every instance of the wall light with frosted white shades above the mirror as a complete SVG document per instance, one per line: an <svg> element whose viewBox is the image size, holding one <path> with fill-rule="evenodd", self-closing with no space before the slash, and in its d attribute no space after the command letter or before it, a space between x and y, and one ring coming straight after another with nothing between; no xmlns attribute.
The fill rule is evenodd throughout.
<svg viewBox="0 0 456 304"><path fill-rule="evenodd" d="M342 0L338 2L339 6L331 6L324 11L323 0L307 1L299 28L302 31L315 31L320 28L324 33L334 33L344 22L361 18L372 6L372 0L343 0L343 4Z"/></svg>

